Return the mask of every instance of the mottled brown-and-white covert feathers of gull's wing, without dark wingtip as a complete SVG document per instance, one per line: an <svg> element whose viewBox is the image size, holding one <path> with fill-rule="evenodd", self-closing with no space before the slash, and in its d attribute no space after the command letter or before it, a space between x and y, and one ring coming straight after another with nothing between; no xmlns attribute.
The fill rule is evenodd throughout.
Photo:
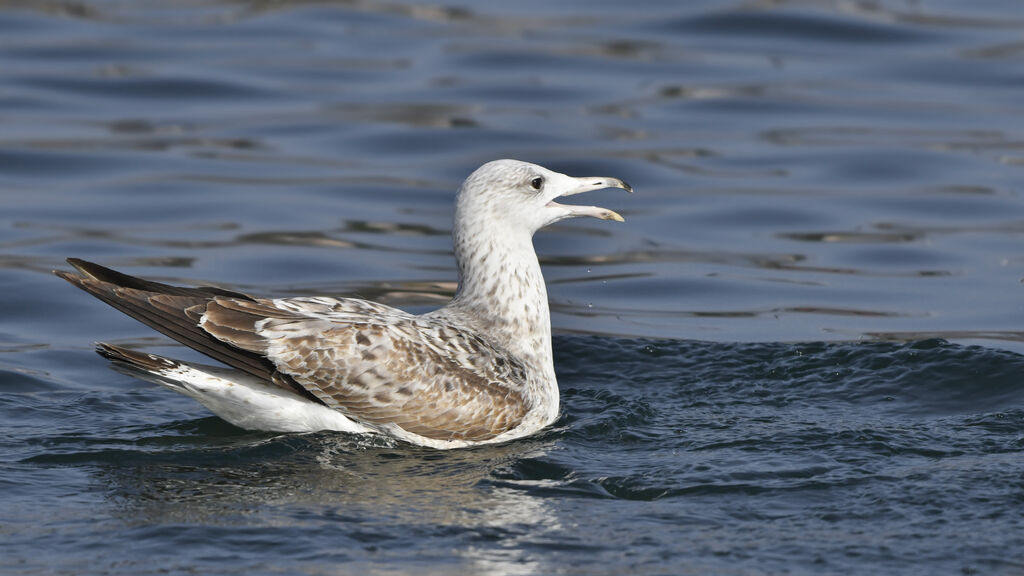
<svg viewBox="0 0 1024 576"><path fill-rule="evenodd" d="M530 408L517 360L475 334L375 302L215 298L202 326L370 424L480 441L514 428Z"/></svg>

